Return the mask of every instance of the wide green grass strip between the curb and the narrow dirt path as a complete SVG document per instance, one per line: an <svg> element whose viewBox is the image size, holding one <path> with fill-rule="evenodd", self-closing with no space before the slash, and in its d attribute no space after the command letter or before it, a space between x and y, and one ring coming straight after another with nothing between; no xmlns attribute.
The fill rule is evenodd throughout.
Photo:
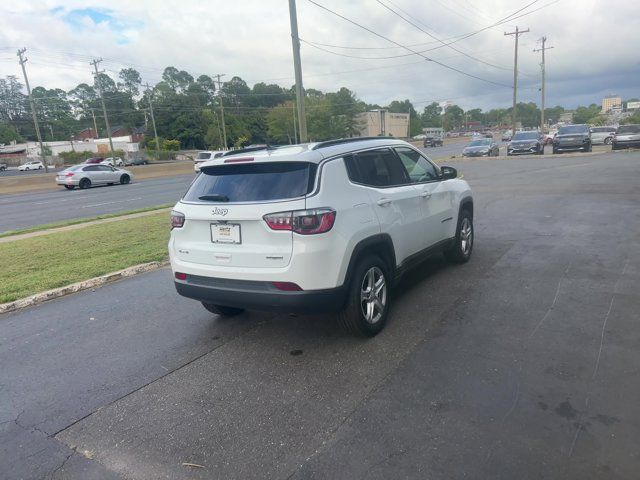
<svg viewBox="0 0 640 480"><path fill-rule="evenodd" d="M166 212L0 244L0 303L167 258Z"/></svg>

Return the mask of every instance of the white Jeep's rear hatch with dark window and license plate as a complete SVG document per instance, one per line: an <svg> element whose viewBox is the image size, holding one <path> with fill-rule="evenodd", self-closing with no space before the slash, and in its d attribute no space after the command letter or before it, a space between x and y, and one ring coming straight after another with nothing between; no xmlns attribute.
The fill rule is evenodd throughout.
<svg viewBox="0 0 640 480"><path fill-rule="evenodd" d="M315 171L313 163L293 161L202 168L176 207L185 215L184 226L174 232L176 256L212 266L288 265L293 233L272 230L263 217L303 210Z"/></svg>

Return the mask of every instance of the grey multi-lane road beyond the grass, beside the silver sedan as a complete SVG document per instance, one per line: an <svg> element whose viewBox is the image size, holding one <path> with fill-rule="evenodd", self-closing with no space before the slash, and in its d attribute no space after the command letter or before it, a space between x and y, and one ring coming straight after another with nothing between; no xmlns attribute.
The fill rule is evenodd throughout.
<svg viewBox="0 0 640 480"><path fill-rule="evenodd" d="M66 190L60 187L60 190L55 191L2 195L0 233L176 202L192 180L193 174L187 174L87 190Z"/></svg>

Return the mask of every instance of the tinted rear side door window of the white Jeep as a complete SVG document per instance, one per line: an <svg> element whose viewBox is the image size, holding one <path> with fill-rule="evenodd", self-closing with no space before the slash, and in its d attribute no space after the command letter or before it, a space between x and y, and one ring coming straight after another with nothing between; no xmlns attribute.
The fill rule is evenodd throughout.
<svg viewBox="0 0 640 480"><path fill-rule="evenodd" d="M408 182L407 174L389 149L369 150L345 158L349 178L374 187L389 187Z"/></svg>

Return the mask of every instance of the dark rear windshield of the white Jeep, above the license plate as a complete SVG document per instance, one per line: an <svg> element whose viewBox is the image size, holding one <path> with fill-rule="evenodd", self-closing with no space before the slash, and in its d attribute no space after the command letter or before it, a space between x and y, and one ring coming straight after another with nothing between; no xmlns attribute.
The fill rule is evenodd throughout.
<svg viewBox="0 0 640 480"><path fill-rule="evenodd" d="M188 202L260 202L286 200L313 189L316 165L269 162L205 167L183 200Z"/></svg>

